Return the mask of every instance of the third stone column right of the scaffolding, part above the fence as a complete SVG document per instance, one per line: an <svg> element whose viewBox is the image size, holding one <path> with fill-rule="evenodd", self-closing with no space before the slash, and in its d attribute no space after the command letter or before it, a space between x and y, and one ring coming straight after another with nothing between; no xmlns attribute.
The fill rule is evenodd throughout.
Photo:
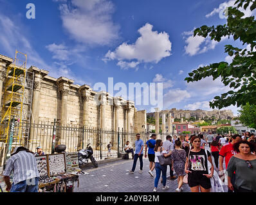
<svg viewBox="0 0 256 205"><path fill-rule="evenodd" d="M83 103L83 119L82 124L83 126L89 126L89 97L91 92L89 91L89 86L82 85L80 87L80 92L82 95L82 103Z"/></svg>

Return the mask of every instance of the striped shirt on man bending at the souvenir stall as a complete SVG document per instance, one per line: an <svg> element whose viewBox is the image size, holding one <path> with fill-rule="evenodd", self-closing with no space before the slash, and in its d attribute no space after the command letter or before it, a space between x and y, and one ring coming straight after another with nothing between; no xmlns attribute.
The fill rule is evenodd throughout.
<svg viewBox="0 0 256 205"><path fill-rule="evenodd" d="M14 184L39 177L35 156L26 151L20 151L11 156L7 161L3 176L10 176L12 172L14 172Z"/></svg>

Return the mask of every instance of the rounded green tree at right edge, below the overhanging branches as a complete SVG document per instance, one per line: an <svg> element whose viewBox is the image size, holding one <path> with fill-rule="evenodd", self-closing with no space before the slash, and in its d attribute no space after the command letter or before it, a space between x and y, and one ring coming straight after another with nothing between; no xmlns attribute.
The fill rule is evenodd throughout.
<svg viewBox="0 0 256 205"><path fill-rule="evenodd" d="M256 105L246 103L239 110L239 120L245 126L256 129Z"/></svg>

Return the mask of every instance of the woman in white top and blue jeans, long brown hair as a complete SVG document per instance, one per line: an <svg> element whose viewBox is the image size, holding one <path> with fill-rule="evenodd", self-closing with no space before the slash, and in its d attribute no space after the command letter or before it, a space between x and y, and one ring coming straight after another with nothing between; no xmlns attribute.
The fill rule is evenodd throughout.
<svg viewBox="0 0 256 205"><path fill-rule="evenodd" d="M158 160L158 156L160 156L161 154L163 154L163 156L167 157L170 156L170 154L172 154L172 151L165 151L165 149L163 149L162 147L163 142L162 140L156 140L156 146L154 148L154 152L155 152L155 158L154 158L154 162L155 162L155 169L156 169L156 178L154 179L154 190L153 192L156 192L157 188L158 188L158 181L160 179L161 173L162 173L162 179L163 179L163 188L162 190L168 190L169 186L166 186L166 172L167 172L167 166L166 165L160 165L159 160Z"/></svg>

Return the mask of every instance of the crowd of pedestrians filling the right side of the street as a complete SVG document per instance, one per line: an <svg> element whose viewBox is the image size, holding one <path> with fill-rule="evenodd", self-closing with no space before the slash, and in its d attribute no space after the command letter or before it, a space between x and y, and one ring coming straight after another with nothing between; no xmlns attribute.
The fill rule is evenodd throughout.
<svg viewBox="0 0 256 205"><path fill-rule="evenodd" d="M143 169L143 140L136 135L133 174L140 158L140 173ZM208 133L186 136L166 136L156 140L156 134L145 143L145 158L149 158L149 174L154 177L153 192L157 192L161 177L162 189L168 190L167 169L170 179L178 177L176 192L183 191L188 183L191 192L211 192L214 172L228 186L228 192L256 192L256 138L253 133L242 135L219 135ZM135 157L136 156L136 157ZM160 165L158 156L171 159L170 165ZM225 165L225 166L224 166ZM154 176L154 171L156 176ZM176 176L174 176L174 171ZM226 182L224 182L226 175ZM224 189L223 189L224 190Z"/></svg>

